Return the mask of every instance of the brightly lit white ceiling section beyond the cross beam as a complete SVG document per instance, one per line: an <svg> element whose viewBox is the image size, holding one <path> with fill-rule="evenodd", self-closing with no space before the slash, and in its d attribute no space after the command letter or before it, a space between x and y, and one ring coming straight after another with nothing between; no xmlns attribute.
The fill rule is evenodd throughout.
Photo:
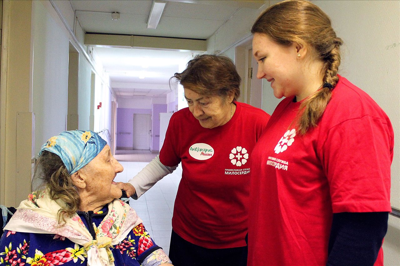
<svg viewBox="0 0 400 266"><path fill-rule="evenodd" d="M165 97L171 91L169 79L184 59L193 53L129 48L96 47L111 87L118 97ZM140 75L144 79L140 79Z"/></svg>

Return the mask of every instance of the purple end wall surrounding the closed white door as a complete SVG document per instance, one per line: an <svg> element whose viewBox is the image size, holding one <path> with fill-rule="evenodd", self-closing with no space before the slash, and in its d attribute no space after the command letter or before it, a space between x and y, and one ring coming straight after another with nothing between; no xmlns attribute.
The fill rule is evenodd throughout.
<svg viewBox="0 0 400 266"><path fill-rule="evenodd" d="M151 109L117 108L117 149L122 147L132 149L133 147L134 113L151 114ZM160 127L160 119L158 119L158 127Z"/></svg>

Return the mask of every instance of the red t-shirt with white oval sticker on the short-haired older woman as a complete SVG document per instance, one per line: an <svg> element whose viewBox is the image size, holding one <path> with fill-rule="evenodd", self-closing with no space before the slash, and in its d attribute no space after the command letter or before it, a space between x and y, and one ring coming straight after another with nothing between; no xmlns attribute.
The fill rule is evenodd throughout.
<svg viewBox="0 0 400 266"><path fill-rule="evenodd" d="M188 108L170 119L160 161L182 161L172 228L204 248L246 246L250 161L270 115L236 102L225 125L206 129Z"/></svg>

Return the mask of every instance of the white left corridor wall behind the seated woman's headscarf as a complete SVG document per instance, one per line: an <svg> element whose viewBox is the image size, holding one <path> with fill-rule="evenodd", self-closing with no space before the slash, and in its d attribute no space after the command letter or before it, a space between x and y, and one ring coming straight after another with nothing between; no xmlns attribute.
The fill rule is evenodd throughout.
<svg viewBox="0 0 400 266"><path fill-rule="evenodd" d="M73 10L67 1L55 1L68 27L73 25ZM32 1L33 30L33 112L35 113L35 152L53 135L65 130L68 101L68 51L72 40L68 28L48 1ZM72 16L71 16L72 14ZM80 28L77 32L82 32ZM94 131L111 128L112 93L107 75L96 56L88 56L82 44L79 50L78 78L78 129L89 129L91 101L102 102L94 111ZM88 61L92 60L92 64ZM90 84L92 69L96 73L95 99L91 99ZM97 107L97 105L95 106ZM102 135L110 143L109 134Z"/></svg>

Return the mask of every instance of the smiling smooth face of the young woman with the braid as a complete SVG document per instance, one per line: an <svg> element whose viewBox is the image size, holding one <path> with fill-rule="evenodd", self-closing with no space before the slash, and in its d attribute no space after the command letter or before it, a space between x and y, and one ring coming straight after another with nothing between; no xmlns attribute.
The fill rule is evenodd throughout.
<svg viewBox="0 0 400 266"><path fill-rule="evenodd" d="M271 82L278 99L299 93L298 83L303 82L302 68L295 44L282 46L266 34L255 33L253 55L258 62L258 79Z"/></svg>

